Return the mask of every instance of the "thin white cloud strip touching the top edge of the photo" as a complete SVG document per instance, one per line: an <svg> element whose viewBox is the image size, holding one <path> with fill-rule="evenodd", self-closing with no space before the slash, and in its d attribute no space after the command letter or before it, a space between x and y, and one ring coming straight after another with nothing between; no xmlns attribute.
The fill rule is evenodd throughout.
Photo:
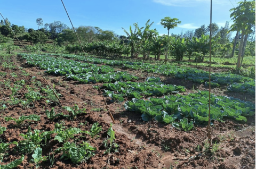
<svg viewBox="0 0 256 169"><path fill-rule="evenodd" d="M209 3L209 0L153 0L155 3L159 3L166 6L195 6L197 3ZM213 0L214 4L226 4L223 0Z"/></svg>

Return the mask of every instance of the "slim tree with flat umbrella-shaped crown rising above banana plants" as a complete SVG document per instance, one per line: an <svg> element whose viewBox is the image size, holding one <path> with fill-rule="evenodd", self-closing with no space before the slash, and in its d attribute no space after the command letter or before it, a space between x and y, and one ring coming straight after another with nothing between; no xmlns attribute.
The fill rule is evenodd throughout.
<svg viewBox="0 0 256 169"><path fill-rule="evenodd" d="M166 16L164 19L161 19L160 23L164 28L167 28L167 30L168 30L168 35L167 35L168 43L167 43L167 50L166 50L166 55L165 55L165 62L167 62L168 47L169 47L169 31L170 31L170 29L177 27L177 24L181 23L181 21L179 21L179 19L177 19L177 18L170 18L169 16Z"/></svg>

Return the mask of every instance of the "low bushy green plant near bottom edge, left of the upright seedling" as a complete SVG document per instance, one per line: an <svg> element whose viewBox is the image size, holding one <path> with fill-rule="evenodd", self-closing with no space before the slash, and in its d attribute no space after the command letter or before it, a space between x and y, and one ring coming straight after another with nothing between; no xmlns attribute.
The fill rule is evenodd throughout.
<svg viewBox="0 0 256 169"><path fill-rule="evenodd" d="M77 146L74 142L65 142L63 147L57 149L57 152L63 152L60 157L61 159L71 159L74 164L79 164L94 156L95 150L96 148L92 147L88 142L83 142L81 147Z"/></svg>

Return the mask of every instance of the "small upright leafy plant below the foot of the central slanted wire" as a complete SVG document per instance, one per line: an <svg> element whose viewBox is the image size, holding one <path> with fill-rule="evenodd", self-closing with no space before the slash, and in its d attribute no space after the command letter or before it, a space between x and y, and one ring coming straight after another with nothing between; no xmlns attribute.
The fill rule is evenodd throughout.
<svg viewBox="0 0 256 169"><path fill-rule="evenodd" d="M119 145L115 143L115 131L112 129L112 123L110 123L110 128L108 129L108 139L103 141L103 146L106 148L105 154L118 152Z"/></svg>

